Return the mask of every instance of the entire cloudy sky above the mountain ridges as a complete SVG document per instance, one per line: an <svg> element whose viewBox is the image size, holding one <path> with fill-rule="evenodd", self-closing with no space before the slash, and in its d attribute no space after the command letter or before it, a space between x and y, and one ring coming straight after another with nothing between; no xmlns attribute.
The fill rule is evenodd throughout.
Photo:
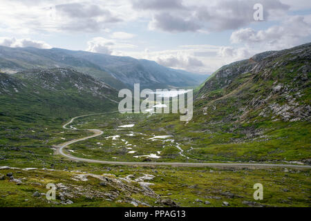
<svg viewBox="0 0 311 221"><path fill-rule="evenodd" d="M0 0L2 46L131 56L195 73L310 41L310 0Z"/></svg>

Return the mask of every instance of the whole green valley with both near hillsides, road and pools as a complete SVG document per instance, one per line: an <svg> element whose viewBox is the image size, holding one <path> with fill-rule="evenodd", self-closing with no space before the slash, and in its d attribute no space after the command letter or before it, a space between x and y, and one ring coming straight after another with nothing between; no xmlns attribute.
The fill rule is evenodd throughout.
<svg viewBox="0 0 311 221"><path fill-rule="evenodd" d="M81 69L1 73L0 206L309 207L310 48L220 68L189 122L118 113L117 90Z"/></svg>

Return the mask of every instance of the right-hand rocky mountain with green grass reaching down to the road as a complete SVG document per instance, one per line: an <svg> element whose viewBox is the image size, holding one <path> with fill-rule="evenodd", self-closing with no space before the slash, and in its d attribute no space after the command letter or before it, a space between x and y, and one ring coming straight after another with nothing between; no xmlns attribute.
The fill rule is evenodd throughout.
<svg viewBox="0 0 311 221"><path fill-rule="evenodd" d="M191 121L154 115L190 159L311 163L311 44L263 52L217 70L198 88Z"/></svg>

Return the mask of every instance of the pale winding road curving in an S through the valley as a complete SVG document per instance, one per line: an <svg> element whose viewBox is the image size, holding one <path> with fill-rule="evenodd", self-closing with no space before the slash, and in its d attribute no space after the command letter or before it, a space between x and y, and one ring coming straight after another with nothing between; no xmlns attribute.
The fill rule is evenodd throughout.
<svg viewBox="0 0 311 221"><path fill-rule="evenodd" d="M118 111L113 111L109 113L117 113ZM70 119L70 121L66 124L64 124L63 128L67 130L73 130L72 128L67 128L67 126L77 118L80 117L88 117L92 115L103 115L103 114L109 114L109 113L93 113L90 115L82 115L73 117ZM117 162L117 161L104 161L104 160L91 160L91 159L85 159L80 157L75 157L73 155L70 155L68 153L64 153L64 148L70 144L74 144L76 142L80 142L82 140L88 140L93 137L98 137L102 135L104 132L97 130L97 129L87 129L85 131L91 131L94 133L94 135L88 136L88 137L82 137L79 139L71 140L68 142L65 142L63 144L57 145L57 153L60 155L63 155L64 157L68 158L69 160L74 160L77 162L88 162L88 163L95 163L95 164L110 164L110 165L122 165L122 166L189 166L189 167L202 167L202 166L211 166L211 167L234 167L234 168L268 168L268 167L281 167L281 168L296 168L296 169L311 169L311 166L308 165L294 165L294 164L241 164L241 163L185 163L185 162Z"/></svg>

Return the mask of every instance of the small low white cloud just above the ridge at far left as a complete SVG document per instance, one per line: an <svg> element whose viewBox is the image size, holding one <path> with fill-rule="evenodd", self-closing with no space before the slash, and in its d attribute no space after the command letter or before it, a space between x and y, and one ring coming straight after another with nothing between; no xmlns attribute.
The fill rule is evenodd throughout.
<svg viewBox="0 0 311 221"><path fill-rule="evenodd" d="M32 39L16 39L15 37L0 37L0 46L7 46L11 48L52 48L44 41L35 41Z"/></svg>

